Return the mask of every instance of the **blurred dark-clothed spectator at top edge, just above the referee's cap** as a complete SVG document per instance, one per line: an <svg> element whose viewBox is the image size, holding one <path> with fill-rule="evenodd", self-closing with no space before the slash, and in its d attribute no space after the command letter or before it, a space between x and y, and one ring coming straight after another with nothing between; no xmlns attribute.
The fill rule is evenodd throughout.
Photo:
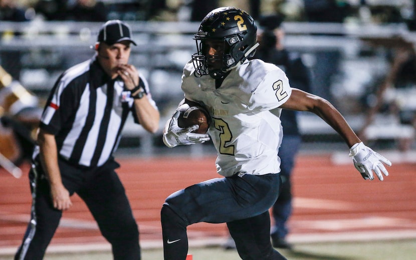
<svg viewBox="0 0 416 260"><path fill-rule="evenodd" d="M106 21L107 9L102 1L69 0L65 19L75 21Z"/></svg>

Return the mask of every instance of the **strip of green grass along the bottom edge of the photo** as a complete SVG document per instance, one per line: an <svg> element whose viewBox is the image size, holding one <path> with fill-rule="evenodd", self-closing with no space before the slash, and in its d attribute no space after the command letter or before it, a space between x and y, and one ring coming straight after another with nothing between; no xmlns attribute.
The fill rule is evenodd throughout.
<svg viewBox="0 0 416 260"><path fill-rule="evenodd" d="M416 239L368 242L326 242L295 244L292 251L280 250L290 260L414 260ZM190 247L193 260L239 260L236 250L222 247ZM0 256L0 260L12 259ZM110 252L49 253L45 260L111 260ZM163 259L162 249L144 249L143 260Z"/></svg>

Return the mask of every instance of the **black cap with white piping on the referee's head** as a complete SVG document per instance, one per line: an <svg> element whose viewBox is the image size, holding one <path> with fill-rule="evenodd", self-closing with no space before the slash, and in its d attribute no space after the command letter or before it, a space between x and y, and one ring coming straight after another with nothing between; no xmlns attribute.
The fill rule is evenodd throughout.
<svg viewBox="0 0 416 260"><path fill-rule="evenodd" d="M98 33L99 42L105 42L112 45L116 42L129 40L134 45L136 42L131 38L130 26L121 20L109 20L101 27Z"/></svg>

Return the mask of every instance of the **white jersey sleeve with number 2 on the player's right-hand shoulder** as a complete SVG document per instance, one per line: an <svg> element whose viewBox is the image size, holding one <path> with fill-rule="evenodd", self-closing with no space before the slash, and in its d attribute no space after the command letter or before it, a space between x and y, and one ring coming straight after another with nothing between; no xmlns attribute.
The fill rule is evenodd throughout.
<svg viewBox="0 0 416 260"><path fill-rule="evenodd" d="M253 91L249 101L250 109L270 110L285 103L292 93L285 72L276 67L268 70Z"/></svg>

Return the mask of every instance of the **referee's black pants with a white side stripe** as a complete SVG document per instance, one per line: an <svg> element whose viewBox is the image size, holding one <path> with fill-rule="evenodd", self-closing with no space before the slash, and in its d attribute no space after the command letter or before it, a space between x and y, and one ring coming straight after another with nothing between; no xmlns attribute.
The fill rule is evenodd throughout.
<svg viewBox="0 0 416 260"><path fill-rule="evenodd" d="M100 167L81 169L59 159L59 167L70 195L76 192L85 201L101 233L111 243L114 259L140 259L138 226L114 171L119 164L111 159ZM53 207L42 167L34 164L29 177L33 197L31 220L15 259L37 260L44 257L62 211Z"/></svg>

